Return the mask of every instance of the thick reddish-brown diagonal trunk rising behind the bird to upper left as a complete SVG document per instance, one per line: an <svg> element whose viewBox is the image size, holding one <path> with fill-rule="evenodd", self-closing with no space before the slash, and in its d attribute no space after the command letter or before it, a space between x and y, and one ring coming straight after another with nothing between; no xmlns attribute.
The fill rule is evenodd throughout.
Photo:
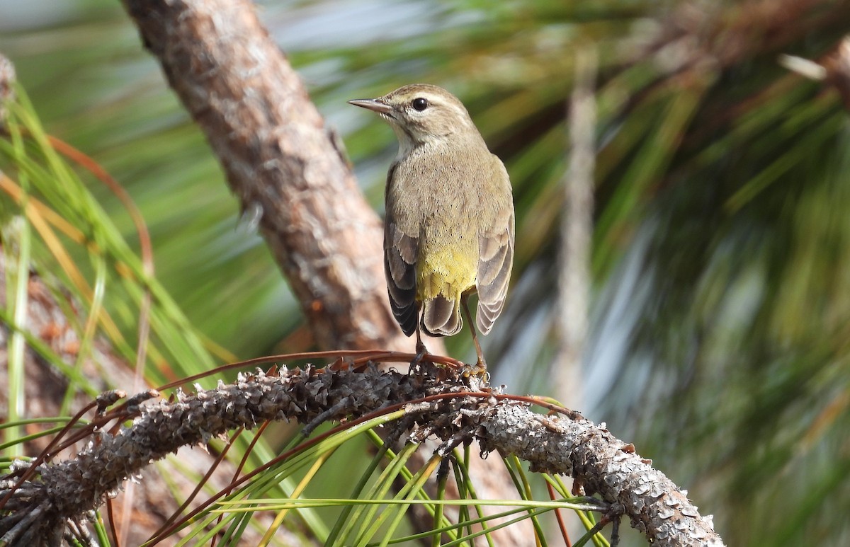
<svg viewBox="0 0 850 547"><path fill-rule="evenodd" d="M125 0L286 274L320 347L412 351L389 311L382 228L251 3Z"/></svg>

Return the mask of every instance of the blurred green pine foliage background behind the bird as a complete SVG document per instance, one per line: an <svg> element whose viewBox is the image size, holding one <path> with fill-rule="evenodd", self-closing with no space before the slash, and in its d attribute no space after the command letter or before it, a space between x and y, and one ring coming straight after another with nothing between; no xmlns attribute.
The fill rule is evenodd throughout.
<svg viewBox="0 0 850 547"><path fill-rule="evenodd" d="M285 282L120 6L37 15L3 20L0 52L49 133L133 195L190 322L241 357L301 349ZM513 392L549 389L566 101L575 52L596 49L592 330L572 388L728 544L850 541L850 126L837 93L777 63L836 48L847 3L323 0L260 15L378 210L394 136L346 99L448 87L506 162L514 290L485 343ZM133 245L117 200L91 191Z"/></svg>

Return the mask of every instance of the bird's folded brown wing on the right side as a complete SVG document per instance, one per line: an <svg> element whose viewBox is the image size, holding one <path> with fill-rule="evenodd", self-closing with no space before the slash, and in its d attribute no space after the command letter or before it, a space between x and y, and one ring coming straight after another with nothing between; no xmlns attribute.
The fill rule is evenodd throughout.
<svg viewBox="0 0 850 547"><path fill-rule="evenodd" d="M505 304L507 283L511 279L513 267L513 199L507 172L501 162L499 167L496 172L504 177L506 183L502 189L504 195L501 196L501 205L496 206L496 215L490 228L479 232L479 305L475 322L484 335L490 332Z"/></svg>

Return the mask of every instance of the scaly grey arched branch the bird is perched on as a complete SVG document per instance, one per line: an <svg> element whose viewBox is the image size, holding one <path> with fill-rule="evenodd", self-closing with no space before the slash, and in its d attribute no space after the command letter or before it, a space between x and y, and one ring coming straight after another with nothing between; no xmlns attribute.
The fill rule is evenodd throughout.
<svg viewBox="0 0 850 547"><path fill-rule="evenodd" d="M422 398L451 395L421 403ZM516 454L537 471L568 474L587 493L609 505L606 516L626 514L656 545L722 545L711 519L700 516L684 493L630 444L603 427L573 416L547 417L526 404L487 394L471 394L461 375L439 378L403 375L369 367L362 372L329 369L286 371L280 376L243 377L229 386L160 401L143 409L133 426L99 443L74 460L44 467L37 480L14 491L0 518L8 522L38 511L27 529L31 544L56 536L69 518L100 505L105 496L181 446L204 443L238 427L265 420L343 420L392 403L409 404L399 423L410 439L425 437L462 443L477 440L485 451ZM20 466L20 465L19 465ZM3 482L0 487L9 488ZM14 540L14 538L13 538Z"/></svg>

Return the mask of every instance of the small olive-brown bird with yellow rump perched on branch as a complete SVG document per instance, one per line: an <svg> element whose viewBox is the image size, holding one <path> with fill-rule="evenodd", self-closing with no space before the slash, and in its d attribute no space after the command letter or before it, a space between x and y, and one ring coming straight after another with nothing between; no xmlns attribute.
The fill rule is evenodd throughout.
<svg viewBox="0 0 850 547"><path fill-rule="evenodd" d="M478 328L499 317L513 264L513 196L505 166L460 100L442 87L415 83L350 104L374 110L393 127L399 154L389 167L383 252L389 302L416 351L431 336L472 329L467 298L478 292Z"/></svg>

